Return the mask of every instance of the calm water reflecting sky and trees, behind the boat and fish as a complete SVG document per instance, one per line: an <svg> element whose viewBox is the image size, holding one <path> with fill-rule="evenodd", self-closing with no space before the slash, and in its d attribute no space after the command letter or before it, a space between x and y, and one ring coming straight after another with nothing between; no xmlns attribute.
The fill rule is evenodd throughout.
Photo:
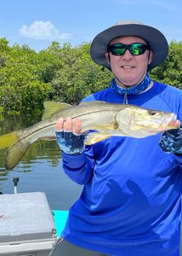
<svg viewBox="0 0 182 256"><path fill-rule="evenodd" d="M32 121L33 120L33 121ZM0 134L20 129L38 119L9 119L0 123ZM61 168L60 148L56 141L37 141L27 150L12 171L4 168L7 150L0 150L0 192L14 193L13 177L19 177L18 192L45 192L52 209L67 210L77 200L82 186L73 183Z"/></svg>

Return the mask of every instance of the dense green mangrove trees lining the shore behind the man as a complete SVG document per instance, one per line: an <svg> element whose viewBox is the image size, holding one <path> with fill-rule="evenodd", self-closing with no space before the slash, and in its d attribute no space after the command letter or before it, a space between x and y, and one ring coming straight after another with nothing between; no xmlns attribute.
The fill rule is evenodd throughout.
<svg viewBox="0 0 182 256"><path fill-rule="evenodd" d="M76 104L108 87L112 74L91 60L89 49L88 43L60 47L52 42L37 53L0 38L0 116L42 113L45 100ZM167 60L150 74L181 89L182 42L171 42Z"/></svg>

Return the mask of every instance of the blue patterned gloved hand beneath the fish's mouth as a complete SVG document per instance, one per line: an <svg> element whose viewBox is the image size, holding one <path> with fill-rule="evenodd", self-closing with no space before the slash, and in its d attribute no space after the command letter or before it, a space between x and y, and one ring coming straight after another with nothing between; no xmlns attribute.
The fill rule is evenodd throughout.
<svg viewBox="0 0 182 256"><path fill-rule="evenodd" d="M159 146L164 152L182 154L182 126L179 129L165 131Z"/></svg>

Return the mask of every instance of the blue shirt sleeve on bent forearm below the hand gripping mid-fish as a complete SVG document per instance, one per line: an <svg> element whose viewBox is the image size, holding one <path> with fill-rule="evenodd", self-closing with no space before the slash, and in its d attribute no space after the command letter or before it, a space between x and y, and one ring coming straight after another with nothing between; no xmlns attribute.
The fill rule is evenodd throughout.
<svg viewBox="0 0 182 256"><path fill-rule="evenodd" d="M85 184L94 175L94 156L91 146L86 146L84 152L78 155L62 152L63 169L65 174L75 183Z"/></svg>

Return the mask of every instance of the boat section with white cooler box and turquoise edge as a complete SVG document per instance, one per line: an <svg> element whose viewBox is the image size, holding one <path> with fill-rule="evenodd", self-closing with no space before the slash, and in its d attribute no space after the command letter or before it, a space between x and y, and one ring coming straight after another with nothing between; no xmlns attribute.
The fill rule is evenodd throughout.
<svg viewBox="0 0 182 256"><path fill-rule="evenodd" d="M61 236L68 211L53 210L44 192L0 195L0 255L48 256Z"/></svg>

